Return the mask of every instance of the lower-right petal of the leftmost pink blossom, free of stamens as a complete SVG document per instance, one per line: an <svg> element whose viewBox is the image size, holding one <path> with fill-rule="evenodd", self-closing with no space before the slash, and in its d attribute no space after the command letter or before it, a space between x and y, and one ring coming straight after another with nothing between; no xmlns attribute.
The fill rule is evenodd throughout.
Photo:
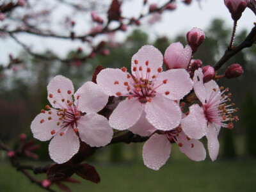
<svg viewBox="0 0 256 192"><path fill-rule="evenodd" d="M82 141L91 147L103 147L110 143L113 129L108 119L97 113L89 113L77 121L77 129Z"/></svg>

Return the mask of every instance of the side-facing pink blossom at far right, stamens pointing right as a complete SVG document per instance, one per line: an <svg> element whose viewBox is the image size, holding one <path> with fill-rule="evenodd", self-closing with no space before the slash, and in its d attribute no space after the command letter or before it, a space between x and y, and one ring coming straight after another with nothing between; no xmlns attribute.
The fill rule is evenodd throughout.
<svg viewBox="0 0 256 192"><path fill-rule="evenodd" d="M230 101L231 93L225 95L228 90L219 88L218 84L211 80L204 83L202 68L195 71L194 90L196 96L202 102L202 108L198 104L189 107L189 115L180 122L182 130L189 138L200 139L206 135L208 140L209 155L214 161L218 156L219 142L218 134L221 127L232 129L232 120L238 120L237 116L232 117L232 113L237 109L230 108L234 104L226 104Z"/></svg>

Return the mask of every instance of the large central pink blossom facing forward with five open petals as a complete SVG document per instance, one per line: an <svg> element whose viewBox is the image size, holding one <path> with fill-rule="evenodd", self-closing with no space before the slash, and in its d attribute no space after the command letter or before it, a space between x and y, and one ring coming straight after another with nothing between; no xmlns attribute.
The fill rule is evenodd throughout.
<svg viewBox="0 0 256 192"><path fill-rule="evenodd" d="M151 131L169 131L179 125L181 111L173 100L188 94L193 82L185 69L162 72L162 65L161 52L152 45L145 45L132 56L132 74L124 67L100 71L97 83L104 92L127 97L109 117L111 127L124 130L135 126L131 129L134 128L132 132L136 133L140 129L136 125L140 118L144 119L140 121L153 125Z"/></svg>

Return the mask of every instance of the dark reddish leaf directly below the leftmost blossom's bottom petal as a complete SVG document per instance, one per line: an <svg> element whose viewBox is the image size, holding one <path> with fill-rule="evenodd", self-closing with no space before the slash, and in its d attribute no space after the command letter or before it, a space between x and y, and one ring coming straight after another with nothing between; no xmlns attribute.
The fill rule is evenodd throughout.
<svg viewBox="0 0 256 192"><path fill-rule="evenodd" d="M74 170L72 168L72 165L70 163L71 161L68 161L67 163L63 164L54 164L47 170L47 178L51 181L58 181L67 179L71 175L73 175Z"/></svg>

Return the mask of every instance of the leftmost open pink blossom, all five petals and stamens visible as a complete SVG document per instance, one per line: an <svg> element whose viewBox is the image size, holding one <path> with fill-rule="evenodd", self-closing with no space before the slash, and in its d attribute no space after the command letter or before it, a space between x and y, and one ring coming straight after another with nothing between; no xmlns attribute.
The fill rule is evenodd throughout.
<svg viewBox="0 0 256 192"><path fill-rule="evenodd" d="M79 150L79 138L91 147L107 145L113 136L108 120L97 112L108 102L108 95L92 82L74 93L70 79L54 77L47 86L52 105L42 109L31 123L33 136L40 141L52 140L49 153L56 163L65 163ZM74 99L72 98L74 95Z"/></svg>

